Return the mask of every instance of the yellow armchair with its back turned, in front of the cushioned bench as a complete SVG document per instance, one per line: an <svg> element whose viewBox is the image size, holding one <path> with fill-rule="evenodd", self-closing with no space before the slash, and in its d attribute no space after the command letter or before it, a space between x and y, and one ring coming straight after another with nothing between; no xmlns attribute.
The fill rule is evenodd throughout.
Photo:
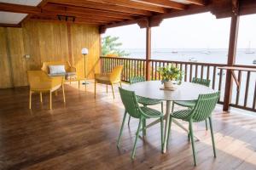
<svg viewBox="0 0 256 170"><path fill-rule="evenodd" d="M52 92L56 92L57 89L62 88L63 101L65 99L64 91L64 77L48 77L44 71L27 71L28 83L29 83L29 109L32 105L32 94L39 93L40 101L43 102L42 93L49 93L49 109L52 109Z"/></svg>

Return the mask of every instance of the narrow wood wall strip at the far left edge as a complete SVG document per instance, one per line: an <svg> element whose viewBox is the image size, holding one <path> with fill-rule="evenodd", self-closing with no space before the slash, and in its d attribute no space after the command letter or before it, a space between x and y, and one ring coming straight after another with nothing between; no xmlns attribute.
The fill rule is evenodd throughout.
<svg viewBox="0 0 256 170"><path fill-rule="evenodd" d="M0 27L0 88L12 87L7 50L7 28Z"/></svg>

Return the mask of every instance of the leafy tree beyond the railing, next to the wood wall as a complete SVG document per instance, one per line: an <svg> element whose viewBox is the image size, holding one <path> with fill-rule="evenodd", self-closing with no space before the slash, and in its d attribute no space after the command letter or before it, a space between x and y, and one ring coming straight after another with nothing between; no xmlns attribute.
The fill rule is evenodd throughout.
<svg viewBox="0 0 256 170"><path fill-rule="evenodd" d="M103 37L102 38L102 55L103 56L127 56L125 50L119 49L122 46L121 42L117 42L119 37Z"/></svg>

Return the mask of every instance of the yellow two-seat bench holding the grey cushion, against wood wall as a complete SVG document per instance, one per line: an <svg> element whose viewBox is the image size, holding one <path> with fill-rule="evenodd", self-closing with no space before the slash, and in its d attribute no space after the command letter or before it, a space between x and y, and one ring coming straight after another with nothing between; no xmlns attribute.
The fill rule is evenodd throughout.
<svg viewBox="0 0 256 170"><path fill-rule="evenodd" d="M49 65L65 65L65 71L66 73L76 73L76 68L71 66L70 63L67 61L49 61L49 62L43 62L43 66L41 68L42 71L44 71L45 73L49 74ZM79 88L80 88L80 81L81 80L84 80L84 78L78 78L78 77L75 77L75 78L72 78L72 77L69 77L67 75L66 77L67 79L67 82L79 82Z"/></svg>

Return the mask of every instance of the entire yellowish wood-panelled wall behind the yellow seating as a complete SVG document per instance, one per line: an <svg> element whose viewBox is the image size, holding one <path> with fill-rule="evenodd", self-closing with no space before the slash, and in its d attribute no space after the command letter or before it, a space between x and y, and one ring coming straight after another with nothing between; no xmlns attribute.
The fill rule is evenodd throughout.
<svg viewBox="0 0 256 170"><path fill-rule="evenodd" d="M99 70L98 66L94 67L100 54L98 27L72 25L70 49L67 35L65 23L29 21L21 28L0 27L0 88L26 86L26 71L40 70L44 61L70 61L78 67L79 77L84 77L81 48L89 49L87 66L92 78L93 72ZM25 54L31 58L25 59Z"/></svg>

